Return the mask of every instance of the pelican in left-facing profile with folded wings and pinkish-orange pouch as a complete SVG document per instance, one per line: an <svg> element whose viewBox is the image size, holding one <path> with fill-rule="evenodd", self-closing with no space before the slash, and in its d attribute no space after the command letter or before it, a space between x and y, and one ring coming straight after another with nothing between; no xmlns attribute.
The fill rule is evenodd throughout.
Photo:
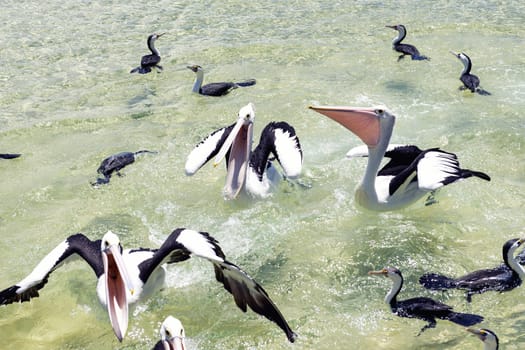
<svg viewBox="0 0 525 350"><path fill-rule="evenodd" d="M349 157L368 157L356 202L362 207L387 211L404 208L437 189L482 172L462 169L457 156L439 148L421 150L413 145L391 145L395 116L385 107L310 107L356 134L366 146L355 147ZM383 157L390 161L379 170Z"/></svg>

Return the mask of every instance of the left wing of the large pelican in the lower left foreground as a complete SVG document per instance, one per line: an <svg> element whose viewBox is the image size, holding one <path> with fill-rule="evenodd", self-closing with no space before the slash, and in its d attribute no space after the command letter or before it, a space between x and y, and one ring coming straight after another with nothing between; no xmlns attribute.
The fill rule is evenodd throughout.
<svg viewBox="0 0 525 350"><path fill-rule="evenodd" d="M91 266L97 277L102 275L104 267L100 253L100 240L91 241L81 233L69 236L53 249L33 271L17 284L0 292L0 305L29 301L38 297L51 272L57 269L73 254L80 255Z"/></svg>

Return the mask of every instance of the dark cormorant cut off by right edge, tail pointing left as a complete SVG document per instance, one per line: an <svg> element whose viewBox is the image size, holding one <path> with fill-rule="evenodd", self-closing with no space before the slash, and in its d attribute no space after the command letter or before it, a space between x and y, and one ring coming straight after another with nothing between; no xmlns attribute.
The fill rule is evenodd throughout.
<svg viewBox="0 0 525 350"><path fill-rule="evenodd" d="M525 269L514 257L514 252L525 239L511 239L503 245L504 264L492 269L477 270L458 278L450 278L437 273L426 273L419 278L423 287L431 290L462 289L466 291L467 301L472 295L489 290L505 292L521 285Z"/></svg>

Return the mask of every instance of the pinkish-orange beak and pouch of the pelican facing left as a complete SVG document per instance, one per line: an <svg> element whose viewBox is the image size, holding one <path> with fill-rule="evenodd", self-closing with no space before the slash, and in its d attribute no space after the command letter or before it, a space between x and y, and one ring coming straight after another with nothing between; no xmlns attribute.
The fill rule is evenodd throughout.
<svg viewBox="0 0 525 350"><path fill-rule="evenodd" d="M310 106L309 108L338 122L369 147L377 146L380 141L381 129L375 108L343 106Z"/></svg>

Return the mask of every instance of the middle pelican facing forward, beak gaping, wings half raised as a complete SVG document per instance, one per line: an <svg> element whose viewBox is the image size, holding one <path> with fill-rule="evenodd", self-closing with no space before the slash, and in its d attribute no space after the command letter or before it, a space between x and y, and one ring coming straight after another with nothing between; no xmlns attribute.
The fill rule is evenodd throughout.
<svg viewBox="0 0 525 350"><path fill-rule="evenodd" d="M237 122L212 132L201 141L186 160L186 175L197 172L211 158L217 166L226 157L224 197L236 198L242 189L254 197L267 197L282 176L274 167L270 153L295 179L301 174L303 152L294 128L286 122L271 122L263 129L259 145L252 151L255 107L252 103L239 110Z"/></svg>

